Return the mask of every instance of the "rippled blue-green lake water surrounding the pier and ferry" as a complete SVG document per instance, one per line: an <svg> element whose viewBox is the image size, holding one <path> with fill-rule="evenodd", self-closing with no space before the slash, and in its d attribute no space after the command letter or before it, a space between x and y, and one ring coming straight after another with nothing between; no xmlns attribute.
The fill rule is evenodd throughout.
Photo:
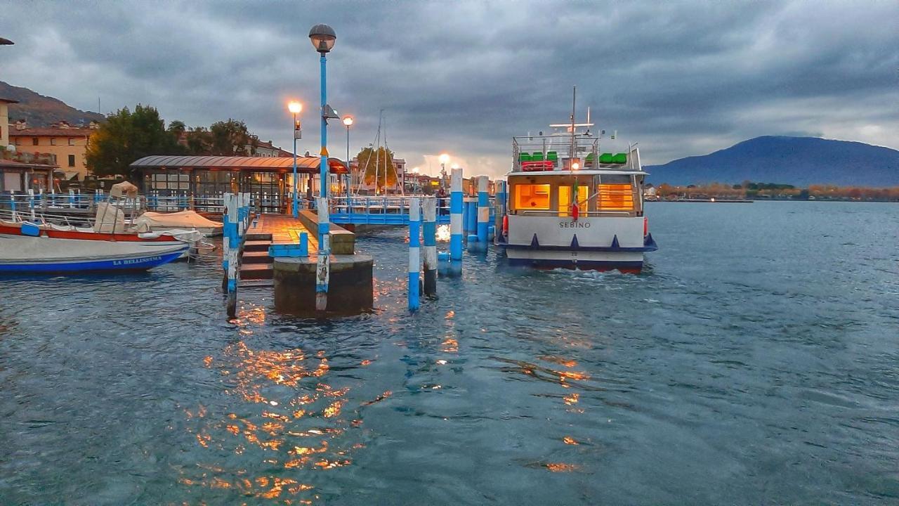
<svg viewBox="0 0 899 506"><path fill-rule="evenodd" d="M332 321L214 264L0 279L2 504L899 502L899 205L650 203L640 276L491 251Z"/></svg>

